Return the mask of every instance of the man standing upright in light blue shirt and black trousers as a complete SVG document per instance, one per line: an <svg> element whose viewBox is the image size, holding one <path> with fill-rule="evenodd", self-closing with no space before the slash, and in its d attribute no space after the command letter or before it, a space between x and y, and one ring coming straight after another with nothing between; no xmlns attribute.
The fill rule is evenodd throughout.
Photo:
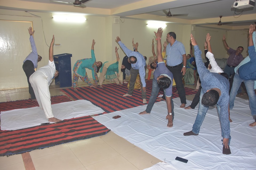
<svg viewBox="0 0 256 170"><path fill-rule="evenodd" d="M173 78L181 99L181 108L186 106L186 94L182 81L182 75L186 73L186 51L184 45L176 40L176 34L169 32L166 36L166 41L169 43L166 47L166 64L167 68L173 73ZM183 63L183 64L182 64Z"/></svg>

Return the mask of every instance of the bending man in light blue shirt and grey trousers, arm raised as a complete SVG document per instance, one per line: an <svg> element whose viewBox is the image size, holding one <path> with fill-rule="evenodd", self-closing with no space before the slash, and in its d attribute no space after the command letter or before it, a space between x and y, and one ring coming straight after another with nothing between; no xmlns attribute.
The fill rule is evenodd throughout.
<svg viewBox="0 0 256 170"><path fill-rule="evenodd" d="M142 90L141 90L141 96L143 103L147 103L146 101L146 82L145 82L145 75L146 75L146 60L144 59L143 55L140 54L137 51L131 51L129 50L122 42L119 37L115 40L119 46L122 48L122 50L125 52L125 54L129 57L128 62L131 63L131 76L130 76L130 86L128 89L128 93L126 93L125 96L132 96L133 90L134 90L134 84L137 78L137 75L139 74L141 84L142 84Z"/></svg>

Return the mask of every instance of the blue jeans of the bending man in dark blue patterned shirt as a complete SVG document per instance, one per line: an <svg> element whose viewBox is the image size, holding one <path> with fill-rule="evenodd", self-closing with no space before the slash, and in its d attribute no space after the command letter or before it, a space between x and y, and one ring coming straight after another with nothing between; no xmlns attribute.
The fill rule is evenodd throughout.
<svg viewBox="0 0 256 170"><path fill-rule="evenodd" d="M193 124L193 128L192 128L192 132L195 134L199 133L200 127L203 123L203 120L205 119L206 112L208 111L208 108L209 108L209 107L202 105L201 100L202 100L203 94L204 94L203 90L201 90L200 101L198 103L199 107L198 107L198 112L197 112L197 118L195 119L195 123ZM217 104L217 109L218 109L218 115L219 115L220 107L218 104ZM229 122L228 122L228 124L229 124ZM230 124L229 124L229 127L230 127ZM224 138L224 133L223 133L222 127L221 127L221 136L222 136L222 138ZM230 144L230 140L231 140L231 136L229 135L229 144ZM223 145L223 143L222 143L222 145Z"/></svg>

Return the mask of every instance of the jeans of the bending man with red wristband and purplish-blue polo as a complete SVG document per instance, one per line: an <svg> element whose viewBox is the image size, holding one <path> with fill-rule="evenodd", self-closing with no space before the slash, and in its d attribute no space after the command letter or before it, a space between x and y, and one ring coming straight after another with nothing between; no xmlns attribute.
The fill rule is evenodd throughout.
<svg viewBox="0 0 256 170"><path fill-rule="evenodd" d="M152 82L152 92L151 92L151 95L150 95L150 99L149 99L149 103L147 104L147 108L146 108L146 112L147 113L150 113L154 104L155 104L155 100L157 99L157 95L159 93L159 86L158 86L158 83L157 81L155 80L155 78L153 78L153 82ZM164 95L165 95L165 89L163 90L164 91ZM173 99L171 97L171 113L173 115L173 119L174 119L174 105L173 105Z"/></svg>

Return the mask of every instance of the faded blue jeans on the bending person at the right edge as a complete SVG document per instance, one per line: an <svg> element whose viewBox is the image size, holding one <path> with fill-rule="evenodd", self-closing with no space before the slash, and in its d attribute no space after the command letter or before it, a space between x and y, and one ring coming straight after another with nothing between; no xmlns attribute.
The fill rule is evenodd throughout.
<svg viewBox="0 0 256 170"><path fill-rule="evenodd" d="M238 70L235 73L233 86L229 95L229 108L233 109L234 107L235 96L237 95L237 90L241 85L242 81L245 82L245 87L249 97L249 107L251 110L251 115L256 115L256 95L254 92L254 80L242 80L238 74Z"/></svg>

